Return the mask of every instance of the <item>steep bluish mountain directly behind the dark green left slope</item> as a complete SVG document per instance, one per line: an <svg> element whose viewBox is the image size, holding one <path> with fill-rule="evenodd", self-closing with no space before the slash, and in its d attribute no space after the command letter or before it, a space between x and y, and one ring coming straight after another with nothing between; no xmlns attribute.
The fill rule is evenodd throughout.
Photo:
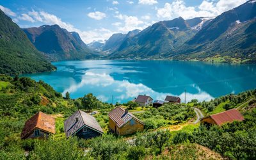
<svg viewBox="0 0 256 160"><path fill-rule="evenodd" d="M58 25L44 25L23 29L36 49L51 60L84 60L95 55L76 32L68 32Z"/></svg>

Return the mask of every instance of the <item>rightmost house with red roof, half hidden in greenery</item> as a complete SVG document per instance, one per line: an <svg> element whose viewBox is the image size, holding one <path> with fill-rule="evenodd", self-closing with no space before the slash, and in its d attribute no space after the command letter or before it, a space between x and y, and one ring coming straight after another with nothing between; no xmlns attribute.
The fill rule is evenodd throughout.
<svg viewBox="0 0 256 160"><path fill-rule="evenodd" d="M222 125L227 122L243 121L244 116L236 109L229 109L228 111L223 111L214 115L206 116L202 118L201 124L207 125Z"/></svg>

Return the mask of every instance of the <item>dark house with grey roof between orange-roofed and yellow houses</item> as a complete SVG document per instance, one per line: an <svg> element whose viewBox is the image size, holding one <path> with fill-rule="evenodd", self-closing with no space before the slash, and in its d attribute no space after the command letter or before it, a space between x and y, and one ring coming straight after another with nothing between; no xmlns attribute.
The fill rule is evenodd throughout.
<svg viewBox="0 0 256 160"><path fill-rule="evenodd" d="M101 136L103 133L97 120L81 110L76 111L65 120L64 131L67 138L77 136L84 139Z"/></svg>

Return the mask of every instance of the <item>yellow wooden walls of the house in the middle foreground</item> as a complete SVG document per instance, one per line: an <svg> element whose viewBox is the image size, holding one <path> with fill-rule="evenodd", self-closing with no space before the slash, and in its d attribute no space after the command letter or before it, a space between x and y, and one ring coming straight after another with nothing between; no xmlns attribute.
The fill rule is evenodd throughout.
<svg viewBox="0 0 256 160"><path fill-rule="evenodd" d="M133 122L132 122L133 121ZM143 131L144 125L132 119L119 129L119 135L132 134L134 132Z"/></svg>

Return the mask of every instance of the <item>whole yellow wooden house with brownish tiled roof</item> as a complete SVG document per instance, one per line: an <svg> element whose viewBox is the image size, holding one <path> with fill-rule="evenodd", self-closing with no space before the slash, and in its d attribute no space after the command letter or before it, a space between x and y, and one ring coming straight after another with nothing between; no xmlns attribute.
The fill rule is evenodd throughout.
<svg viewBox="0 0 256 160"><path fill-rule="evenodd" d="M109 114L109 130L119 134L132 134L143 131L144 124L136 116L128 113L127 109L116 107Z"/></svg>

